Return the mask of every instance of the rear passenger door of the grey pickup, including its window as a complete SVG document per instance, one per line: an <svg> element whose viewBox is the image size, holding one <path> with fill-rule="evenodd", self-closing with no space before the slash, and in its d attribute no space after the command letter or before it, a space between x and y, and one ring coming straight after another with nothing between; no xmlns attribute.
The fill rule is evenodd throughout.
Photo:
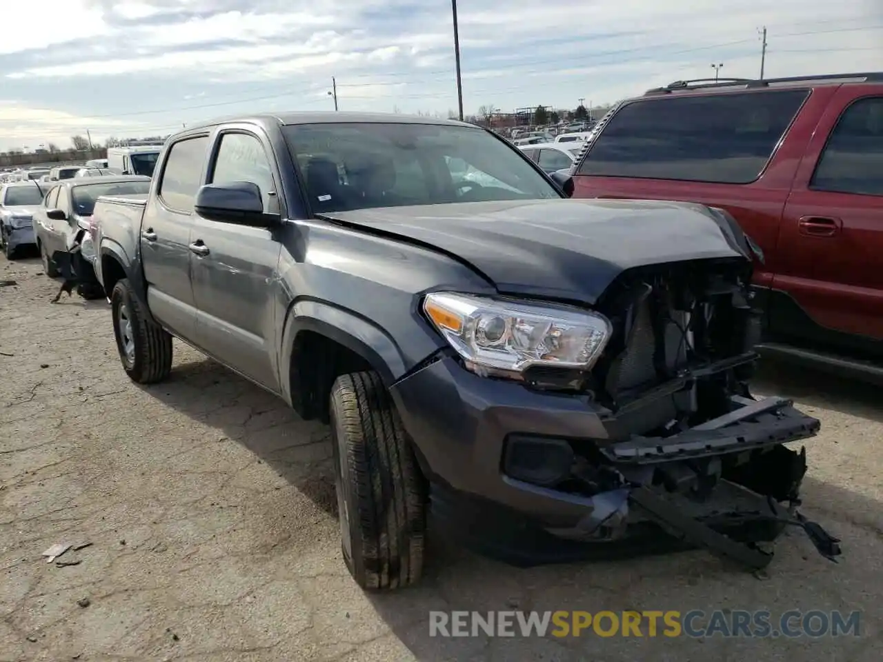
<svg viewBox="0 0 883 662"><path fill-rule="evenodd" d="M193 201L205 173L208 136L185 137L170 145L156 196L141 222L141 260L147 305L162 325L194 341L196 305L191 286L189 245Z"/></svg>

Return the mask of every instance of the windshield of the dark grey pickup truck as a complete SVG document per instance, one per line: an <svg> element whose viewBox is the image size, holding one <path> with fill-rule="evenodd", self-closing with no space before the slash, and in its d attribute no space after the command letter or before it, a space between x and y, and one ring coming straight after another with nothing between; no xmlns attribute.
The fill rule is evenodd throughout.
<svg viewBox="0 0 883 662"><path fill-rule="evenodd" d="M479 129L341 123L283 133L320 213L561 197L517 149Z"/></svg>

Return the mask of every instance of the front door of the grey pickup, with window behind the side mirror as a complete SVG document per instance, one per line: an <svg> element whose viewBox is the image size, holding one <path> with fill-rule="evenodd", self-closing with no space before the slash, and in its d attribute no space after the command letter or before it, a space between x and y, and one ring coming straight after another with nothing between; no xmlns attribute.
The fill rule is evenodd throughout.
<svg viewBox="0 0 883 662"><path fill-rule="evenodd" d="M208 182L252 182L264 210L278 214L279 199L269 146L251 132L218 137ZM281 244L278 230L210 221L194 215L193 296L197 344L234 370L276 392L275 282Z"/></svg>

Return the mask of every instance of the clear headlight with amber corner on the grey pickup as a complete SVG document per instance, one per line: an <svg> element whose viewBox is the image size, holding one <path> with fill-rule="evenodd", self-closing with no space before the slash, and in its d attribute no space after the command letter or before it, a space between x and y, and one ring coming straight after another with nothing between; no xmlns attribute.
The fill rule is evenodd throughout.
<svg viewBox="0 0 883 662"><path fill-rule="evenodd" d="M597 312L451 292L426 295L423 311L480 374L517 376L534 365L589 370L612 330Z"/></svg>

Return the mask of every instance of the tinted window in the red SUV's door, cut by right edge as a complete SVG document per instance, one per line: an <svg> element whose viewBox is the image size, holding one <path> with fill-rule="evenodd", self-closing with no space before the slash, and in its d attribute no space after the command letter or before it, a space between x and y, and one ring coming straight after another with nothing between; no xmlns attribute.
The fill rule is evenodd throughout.
<svg viewBox="0 0 883 662"><path fill-rule="evenodd" d="M883 97L860 99L846 109L828 138L810 187L883 195Z"/></svg>

